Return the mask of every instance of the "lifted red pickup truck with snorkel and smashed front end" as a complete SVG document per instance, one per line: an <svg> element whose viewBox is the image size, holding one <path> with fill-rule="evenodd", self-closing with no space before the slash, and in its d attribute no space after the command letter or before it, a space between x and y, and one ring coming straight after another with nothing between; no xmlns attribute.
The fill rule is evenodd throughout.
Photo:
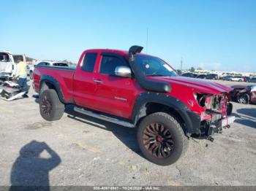
<svg viewBox="0 0 256 191"><path fill-rule="evenodd" d="M59 120L67 104L102 120L138 127L143 155L158 165L175 163L189 137L211 138L231 117L230 87L179 77L162 59L129 51L86 50L78 66L36 66L34 88L45 120Z"/></svg>

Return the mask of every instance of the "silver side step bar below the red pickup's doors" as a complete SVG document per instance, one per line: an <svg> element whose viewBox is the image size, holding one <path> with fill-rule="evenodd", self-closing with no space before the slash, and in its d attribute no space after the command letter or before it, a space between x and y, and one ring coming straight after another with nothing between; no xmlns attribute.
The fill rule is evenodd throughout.
<svg viewBox="0 0 256 191"><path fill-rule="evenodd" d="M108 117L108 116L105 116L103 114L97 114L97 113L88 111L86 109L83 109L83 108L80 108L80 107L77 107L77 106L74 107L74 110L75 110L75 112L78 112L78 113L81 113L81 114L86 114L86 115L89 115L91 117L95 117L95 118L100 119L100 120L113 122L113 123L116 123L118 125L122 125L122 126L127 127L127 128L135 128L135 125L133 125L130 122L126 122L126 121L123 121L123 120L118 120L116 118Z"/></svg>

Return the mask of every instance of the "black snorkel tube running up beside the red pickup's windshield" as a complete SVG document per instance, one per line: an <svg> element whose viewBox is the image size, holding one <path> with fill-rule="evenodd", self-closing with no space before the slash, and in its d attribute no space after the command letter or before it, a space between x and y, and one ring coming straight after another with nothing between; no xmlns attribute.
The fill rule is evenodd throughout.
<svg viewBox="0 0 256 191"><path fill-rule="evenodd" d="M151 79L147 79L143 72L139 69L138 65L135 63L135 55L140 53L143 47L132 46L129 48L129 65L135 74L135 78L138 80L139 84L143 89L157 92L157 93L169 93L171 90L170 84L167 82L159 82Z"/></svg>

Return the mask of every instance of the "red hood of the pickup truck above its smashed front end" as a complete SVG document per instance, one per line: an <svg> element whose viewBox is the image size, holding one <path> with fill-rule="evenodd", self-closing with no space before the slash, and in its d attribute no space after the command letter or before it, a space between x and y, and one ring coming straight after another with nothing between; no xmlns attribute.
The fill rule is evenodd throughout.
<svg viewBox="0 0 256 191"><path fill-rule="evenodd" d="M233 90L233 88L220 85L217 82L189 77L148 77L148 79L157 79L162 82L168 82L170 85L176 84L191 87L197 93L221 94L229 93Z"/></svg>

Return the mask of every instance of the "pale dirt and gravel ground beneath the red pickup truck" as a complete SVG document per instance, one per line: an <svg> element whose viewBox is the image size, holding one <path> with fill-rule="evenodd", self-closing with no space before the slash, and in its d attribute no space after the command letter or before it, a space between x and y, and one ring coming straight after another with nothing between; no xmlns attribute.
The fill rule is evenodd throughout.
<svg viewBox="0 0 256 191"><path fill-rule="evenodd" d="M70 108L46 122L31 96L0 100L0 185L256 185L256 106L233 105L232 128L214 142L190 140L184 157L162 167L141 156L136 129Z"/></svg>

